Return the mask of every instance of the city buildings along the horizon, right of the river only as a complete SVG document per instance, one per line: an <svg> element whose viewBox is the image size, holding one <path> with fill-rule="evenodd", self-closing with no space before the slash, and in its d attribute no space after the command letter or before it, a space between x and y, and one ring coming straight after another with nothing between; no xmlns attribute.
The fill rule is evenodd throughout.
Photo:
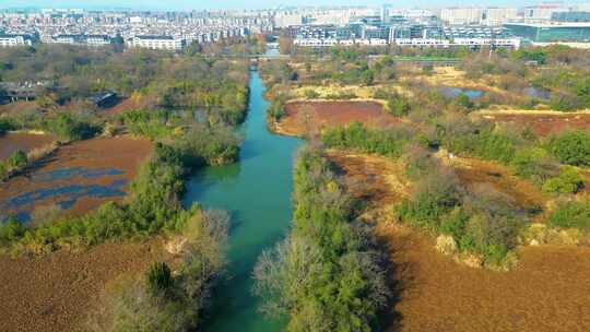
<svg viewBox="0 0 590 332"><path fill-rule="evenodd" d="M590 3L527 8L292 10L275 16L302 47L398 45L412 47L509 47L523 43L590 45Z"/></svg>

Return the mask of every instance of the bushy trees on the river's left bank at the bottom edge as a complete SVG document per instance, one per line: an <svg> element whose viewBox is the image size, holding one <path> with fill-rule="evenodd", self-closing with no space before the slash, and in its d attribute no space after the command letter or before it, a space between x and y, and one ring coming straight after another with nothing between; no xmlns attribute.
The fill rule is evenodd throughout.
<svg viewBox="0 0 590 332"><path fill-rule="evenodd" d="M196 208L187 221L178 268L155 262L141 277L107 292L90 319L94 331L189 331L225 266L228 215Z"/></svg>

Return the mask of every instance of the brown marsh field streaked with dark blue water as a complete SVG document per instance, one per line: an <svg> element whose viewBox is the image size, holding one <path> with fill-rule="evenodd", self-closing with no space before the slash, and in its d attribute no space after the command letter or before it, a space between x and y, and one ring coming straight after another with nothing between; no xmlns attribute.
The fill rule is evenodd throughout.
<svg viewBox="0 0 590 332"><path fill-rule="evenodd" d="M0 215L24 222L31 216L42 218L46 210L83 215L107 201L120 201L151 150L149 140L130 137L60 146L50 157L0 183Z"/></svg>

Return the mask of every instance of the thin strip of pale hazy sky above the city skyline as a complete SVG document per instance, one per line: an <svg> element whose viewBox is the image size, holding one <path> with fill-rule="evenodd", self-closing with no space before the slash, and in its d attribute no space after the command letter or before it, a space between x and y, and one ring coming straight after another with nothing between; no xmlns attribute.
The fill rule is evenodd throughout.
<svg viewBox="0 0 590 332"><path fill-rule="evenodd" d="M590 0L571 0L565 3L590 2ZM191 9L261 9L275 8L281 4L287 5L379 5L391 3L400 8L413 7L445 7L445 5L506 5L521 7L541 3L539 0L0 0L0 8L11 7L39 7L39 8L133 8L133 9L165 9L165 10L191 10Z"/></svg>

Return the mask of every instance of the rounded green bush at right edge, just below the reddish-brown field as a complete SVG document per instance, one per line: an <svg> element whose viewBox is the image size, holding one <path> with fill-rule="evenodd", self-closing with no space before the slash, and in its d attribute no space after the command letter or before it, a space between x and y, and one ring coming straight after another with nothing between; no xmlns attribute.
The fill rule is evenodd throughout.
<svg viewBox="0 0 590 332"><path fill-rule="evenodd" d="M590 134L569 131L548 140L547 149L564 164L590 166Z"/></svg>

